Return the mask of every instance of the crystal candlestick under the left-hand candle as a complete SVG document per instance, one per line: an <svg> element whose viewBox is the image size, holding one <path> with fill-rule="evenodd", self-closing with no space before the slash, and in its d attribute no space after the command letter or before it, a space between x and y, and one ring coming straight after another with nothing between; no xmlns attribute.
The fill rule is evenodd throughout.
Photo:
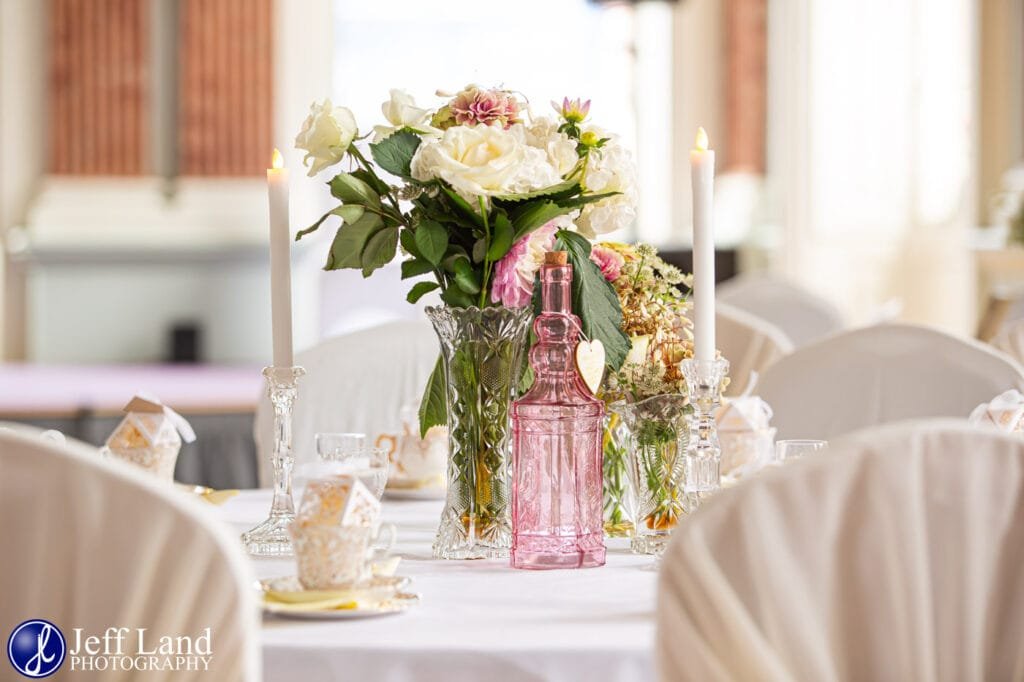
<svg viewBox="0 0 1024 682"><path fill-rule="evenodd" d="M255 556L292 556L292 538L288 527L295 519L292 502L292 410L298 392L301 367L264 368L267 394L273 406L273 502L270 516L256 527L242 534L246 551Z"/></svg>

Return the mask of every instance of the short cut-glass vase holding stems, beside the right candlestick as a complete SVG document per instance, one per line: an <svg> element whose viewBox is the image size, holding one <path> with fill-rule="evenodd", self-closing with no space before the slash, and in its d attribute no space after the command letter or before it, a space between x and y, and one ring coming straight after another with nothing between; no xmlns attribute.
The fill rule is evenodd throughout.
<svg viewBox="0 0 1024 682"><path fill-rule="evenodd" d="M610 407L628 433L626 473L633 493L633 536L638 554L662 554L680 518L696 504L685 492L691 409L682 394L663 394Z"/></svg>

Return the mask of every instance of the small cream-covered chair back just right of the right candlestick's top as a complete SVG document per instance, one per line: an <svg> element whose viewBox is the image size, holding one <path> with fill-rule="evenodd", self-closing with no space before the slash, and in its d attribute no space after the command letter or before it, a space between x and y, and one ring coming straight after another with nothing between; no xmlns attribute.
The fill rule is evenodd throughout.
<svg viewBox="0 0 1024 682"><path fill-rule="evenodd" d="M728 395L739 395L751 374L793 352L793 342L774 325L739 308L719 303L715 307L715 340L729 360Z"/></svg>

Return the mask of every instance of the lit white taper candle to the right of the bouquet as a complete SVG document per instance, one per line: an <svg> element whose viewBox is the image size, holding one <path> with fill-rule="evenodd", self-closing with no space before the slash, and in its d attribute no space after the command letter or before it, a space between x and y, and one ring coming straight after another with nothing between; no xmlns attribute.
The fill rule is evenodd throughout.
<svg viewBox="0 0 1024 682"><path fill-rule="evenodd" d="M715 359L715 152L708 148L708 133L697 129L690 150L693 188L693 356Z"/></svg>

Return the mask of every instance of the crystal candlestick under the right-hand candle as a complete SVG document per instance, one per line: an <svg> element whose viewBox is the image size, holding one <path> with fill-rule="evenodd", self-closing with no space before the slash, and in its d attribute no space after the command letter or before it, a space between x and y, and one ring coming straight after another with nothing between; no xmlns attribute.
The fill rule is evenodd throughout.
<svg viewBox="0 0 1024 682"><path fill-rule="evenodd" d="M729 373L729 361L687 359L680 367L693 406L683 489L687 494L713 493L721 485L722 463L715 408L721 401L722 381Z"/></svg>

